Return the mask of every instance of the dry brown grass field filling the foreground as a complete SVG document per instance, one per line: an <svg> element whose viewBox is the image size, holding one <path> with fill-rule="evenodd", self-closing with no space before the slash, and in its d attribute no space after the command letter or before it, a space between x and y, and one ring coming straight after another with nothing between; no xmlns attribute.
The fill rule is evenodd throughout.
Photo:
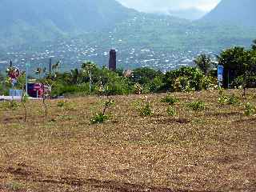
<svg viewBox="0 0 256 192"><path fill-rule="evenodd" d="M174 93L177 116L150 94L154 114L142 117L134 103L140 95L114 96L110 120L90 124L106 98L41 101L24 110L0 103L0 191L256 191L256 90L240 103L221 106L218 90ZM206 109L191 111L187 102Z"/></svg>

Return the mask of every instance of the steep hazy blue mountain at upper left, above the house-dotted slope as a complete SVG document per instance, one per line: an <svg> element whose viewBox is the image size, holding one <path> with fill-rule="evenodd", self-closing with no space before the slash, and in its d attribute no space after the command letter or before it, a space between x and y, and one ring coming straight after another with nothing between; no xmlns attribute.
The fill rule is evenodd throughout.
<svg viewBox="0 0 256 192"><path fill-rule="evenodd" d="M115 0L1 0L0 43L17 45L101 30L134 12Z"/></svg>

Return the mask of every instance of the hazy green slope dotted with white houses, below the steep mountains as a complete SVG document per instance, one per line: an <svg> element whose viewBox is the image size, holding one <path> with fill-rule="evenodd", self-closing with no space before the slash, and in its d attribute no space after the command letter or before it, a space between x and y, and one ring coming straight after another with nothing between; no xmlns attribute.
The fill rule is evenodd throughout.
<svg viewBox="0 0 256 192"><path fill-rule="evenodd" d="M24 65L24 59L28 58L37 67L39 63L48 66L49 58L54 57L55 61L64 61L62 70L70 70L80 67L84 60L94 61L99 66L107 65L108 52L115 48L118 50L118 68L149 66L166 71L192 65L196 55L202 52L214 55L230 46L249 47L255 34L255 29L242 26L137 13L118 22L113 29L59 38L54 42L15 46L10 50L12 54L5 54L2 60L12 58L17 65Z"/></svg>

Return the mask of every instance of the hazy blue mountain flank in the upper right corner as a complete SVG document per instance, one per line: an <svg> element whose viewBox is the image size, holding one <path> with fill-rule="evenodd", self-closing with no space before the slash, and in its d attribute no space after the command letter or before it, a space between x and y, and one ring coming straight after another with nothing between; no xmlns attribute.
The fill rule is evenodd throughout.
<svg viewBox="0 0 256 192"><path fill-rule="evenodd" d="M222 0L202 21L256 26L255 0Z"/></svg>

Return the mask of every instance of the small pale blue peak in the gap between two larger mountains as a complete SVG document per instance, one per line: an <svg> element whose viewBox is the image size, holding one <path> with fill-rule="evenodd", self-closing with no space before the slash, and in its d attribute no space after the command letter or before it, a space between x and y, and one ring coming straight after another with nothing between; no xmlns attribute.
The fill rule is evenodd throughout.
<svg viewBox="0 0 256 192"><path fill-rule="evenodd" d="M170 10L167 14L178 18L186 18L188 20L196 20L202 18L206 11L190 8L185 10Z"/></svg>

